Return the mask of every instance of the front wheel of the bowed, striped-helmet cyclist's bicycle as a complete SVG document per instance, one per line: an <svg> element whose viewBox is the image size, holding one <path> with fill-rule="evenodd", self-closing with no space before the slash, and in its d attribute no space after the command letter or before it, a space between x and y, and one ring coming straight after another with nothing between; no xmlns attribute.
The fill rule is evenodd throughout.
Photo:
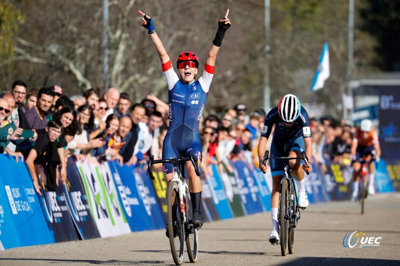
<svg viewBox="0 0 400 266"><path fill-rule="evenodd" d="M280 190L280 206L279 206L279 241L280 241L280 252L282 256L286 256L287 252L287 235L289 221L287 212L289 210L289 193L287 190L287 180L282 180Z"/></svg>

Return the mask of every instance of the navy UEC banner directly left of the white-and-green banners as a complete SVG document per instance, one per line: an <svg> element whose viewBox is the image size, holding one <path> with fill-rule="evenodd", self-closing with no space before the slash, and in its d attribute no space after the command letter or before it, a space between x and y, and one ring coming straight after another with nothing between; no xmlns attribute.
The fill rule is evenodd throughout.
<svg viewBox="0 0 400 266"><path fill-rule="evenodd" d="M82 240L99 238L100 233L90 213L90 206L75 162L69 158L66 165L67 181L63 186L65 201Z"/></svg>

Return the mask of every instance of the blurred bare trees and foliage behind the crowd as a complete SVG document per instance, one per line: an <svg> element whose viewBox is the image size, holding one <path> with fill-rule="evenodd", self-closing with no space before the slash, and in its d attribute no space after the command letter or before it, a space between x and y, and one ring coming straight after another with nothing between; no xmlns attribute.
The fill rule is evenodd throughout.
<svg viewBox="0 0 400 266"><path fill-rule="evenodd" d="M348 67L348 0L270 2L267 57L264 0L110 0L110 85L128 92L133 101L148 93L167 100L159 59L139 25L138 9L154 18L173 61L189 50L203 64L217 20L230 8L232 26L217 57L208 113L236 103L245 103L249 111L263 106L267 60L271 106L286 93L310 102L309 87L326 41L331 75L316 92L315 102L339 117L340 86ZM15 79L29 87L57 84L68 95L102 88L102 8L100 0L0 0L1 89L8 90ZM399 9L397 1L355 0L353 75L398 70Z"/></svg>

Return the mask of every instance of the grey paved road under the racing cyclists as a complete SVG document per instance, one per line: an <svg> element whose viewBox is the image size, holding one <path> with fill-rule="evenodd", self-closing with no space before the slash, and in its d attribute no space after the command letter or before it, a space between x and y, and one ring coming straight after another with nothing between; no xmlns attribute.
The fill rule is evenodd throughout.
<svg viewBox="0 0 400 266"><path fill-rule="evenodd" d="M368 198L363 216L359 209L352 202L310 205L301 212L294 254L286 257L267 241L270 213L206 223L197 265L400 265L400 194ZM380 245L344 248L344 236L354 231L381 237ZM0 252L2 266L54 264L174 265L164 230Z"/></svg>

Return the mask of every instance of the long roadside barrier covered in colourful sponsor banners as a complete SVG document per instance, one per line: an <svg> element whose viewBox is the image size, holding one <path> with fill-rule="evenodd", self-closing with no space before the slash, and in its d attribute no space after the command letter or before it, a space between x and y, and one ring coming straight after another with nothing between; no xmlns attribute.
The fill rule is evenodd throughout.
<svg viewBox="0 0 400 266"><path fill-rule="evenodd" d="M160 170L151 181L140 167L69 159L66 183L40 196L24 163L1 154L0 165L0 250L165 227L166 182ZM232 166L232 173L213 165L212 175L201 174L200 208L207 222L270 211L270 172L262 174L244 161ZM331 163L323 173L312 166L305 177L310 203L350 199L349 167ZM380 160L375 190L400 191L400 160Z"/></svg>

